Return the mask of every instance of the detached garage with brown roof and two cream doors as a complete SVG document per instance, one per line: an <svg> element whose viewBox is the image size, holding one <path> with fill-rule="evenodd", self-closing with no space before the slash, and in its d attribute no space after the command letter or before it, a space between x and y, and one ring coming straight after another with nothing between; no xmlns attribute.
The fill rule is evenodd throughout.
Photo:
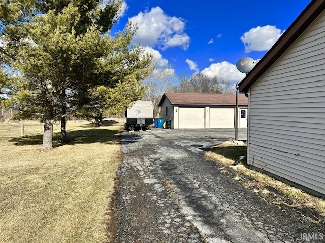
<svg viewBox="0 0 325 243"><path fill-rule="evenodd" d="M247 127L248 100L238 96L238 127ZM236 94L165 93L159 102L161 118L172 128L235 128Z"/></svg>

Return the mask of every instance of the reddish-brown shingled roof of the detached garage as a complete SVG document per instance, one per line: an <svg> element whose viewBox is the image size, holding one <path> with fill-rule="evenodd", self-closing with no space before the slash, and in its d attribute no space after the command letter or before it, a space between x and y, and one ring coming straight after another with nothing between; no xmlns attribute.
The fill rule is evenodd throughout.
<svg viewBox="0 0 325 243"><path fill-rule="evenodd" d="M172 105L236 105L236 94L164 93L159 106L163 105L166 98ZM238 105L248 105L248 99L245 95L238 95Z"/></svg>

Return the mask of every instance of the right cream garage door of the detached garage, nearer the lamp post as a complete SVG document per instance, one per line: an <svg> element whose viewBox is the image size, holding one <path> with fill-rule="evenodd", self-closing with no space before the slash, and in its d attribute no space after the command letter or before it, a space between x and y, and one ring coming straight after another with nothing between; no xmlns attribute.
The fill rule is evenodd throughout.
<svg viewBox="0 0 325 243"><path fill-rule="evenodd" d="M234 128L235 110L233 108L210 108L210 128Z"/></svg>

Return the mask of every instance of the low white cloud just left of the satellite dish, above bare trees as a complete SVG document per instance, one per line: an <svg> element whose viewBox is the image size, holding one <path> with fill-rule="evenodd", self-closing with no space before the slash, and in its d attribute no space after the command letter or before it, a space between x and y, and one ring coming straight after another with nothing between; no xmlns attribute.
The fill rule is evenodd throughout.
<svg viewBox="0 0 325 243"><path fill-rule="evenodd" d="M209 77L218 76L230 82L240 82L245 77L244 73L237 70L236 65L226 61L213 63L201 73Z"/></svg>

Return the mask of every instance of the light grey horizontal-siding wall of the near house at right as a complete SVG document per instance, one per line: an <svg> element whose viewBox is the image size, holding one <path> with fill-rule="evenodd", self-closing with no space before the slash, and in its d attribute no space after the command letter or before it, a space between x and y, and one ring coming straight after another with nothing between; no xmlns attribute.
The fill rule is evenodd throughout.
<svg viewBox="0 0 325 243"><path fill-rule="evenodd" d="M325 194L324 12L249 90L248 164Z"/></svg>

